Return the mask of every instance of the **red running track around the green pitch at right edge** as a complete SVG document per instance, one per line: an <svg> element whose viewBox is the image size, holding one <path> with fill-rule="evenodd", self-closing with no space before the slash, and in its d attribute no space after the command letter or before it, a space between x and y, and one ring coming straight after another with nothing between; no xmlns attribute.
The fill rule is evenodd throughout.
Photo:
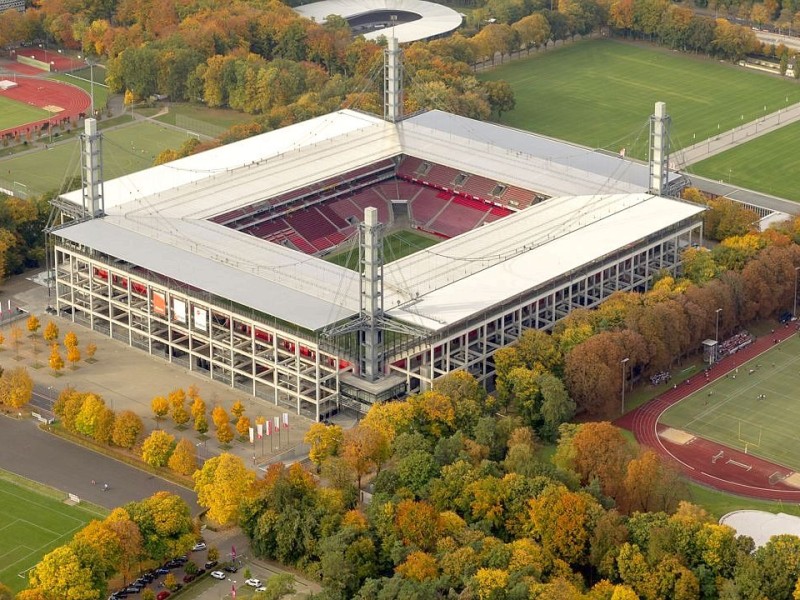
<svg viewBox="0 0 800 600"><path fill-rule="evenodd" d="M794 326L781 326L775 333L759 338L747 348L720 360L709 372L708 380L703 373L697 373L687 380L688 383L684 382L677 389L668 390L653 398L620 417L615 424L632 431L640 444L677 461L686 475L697 483L740 496L800 502L800 489L790 487L782 481L770 483L770 476L779 474L782 478L791 474L791 469L703 438L695 438L687 444L675 444L658 435L658 431L665 429L663 425L659 425L658 419L667 408L769 350L775 345L775 339L780 343L794 333Z"/></svg>

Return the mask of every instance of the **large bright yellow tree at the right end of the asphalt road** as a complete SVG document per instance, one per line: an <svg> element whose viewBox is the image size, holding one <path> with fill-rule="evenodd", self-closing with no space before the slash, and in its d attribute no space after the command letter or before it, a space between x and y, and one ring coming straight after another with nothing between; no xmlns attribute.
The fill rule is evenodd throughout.
<svg viewBox="0 0 800 600"><path fill-rule="evenodd" d="M242 459L227 452L205 461L192 478L197 503L220 525L236 521L241 501L255 482L255 475Z"/></svg>

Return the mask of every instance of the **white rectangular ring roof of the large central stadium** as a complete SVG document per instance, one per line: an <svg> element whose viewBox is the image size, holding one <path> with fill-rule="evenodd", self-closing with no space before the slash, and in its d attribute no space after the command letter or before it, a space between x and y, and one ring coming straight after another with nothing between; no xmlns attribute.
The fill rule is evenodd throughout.
<svg viewBox="0 0 800 600"><path fill-rule="evenodd" d="M208 219L400 154L571 196L387 265L385 309L430 330L702 210L641 193L647 167L620 157L440 111L344 110L105 182L106 216L55 235L318 330L358 312L358 275Z"/></svg>

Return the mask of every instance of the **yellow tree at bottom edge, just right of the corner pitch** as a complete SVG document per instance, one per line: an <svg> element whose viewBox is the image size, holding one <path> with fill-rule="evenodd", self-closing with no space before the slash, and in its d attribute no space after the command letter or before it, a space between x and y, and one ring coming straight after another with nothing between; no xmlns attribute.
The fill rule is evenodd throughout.
<svg viewBox="0 0 800 600"><path fill-rule="evenodd" d="M99 594L92 582L92 572L81 565L75 551L69 546L59 546L31 569L28 579L31 587L46 594L46 598L68 600L97 600Z"/></svg>

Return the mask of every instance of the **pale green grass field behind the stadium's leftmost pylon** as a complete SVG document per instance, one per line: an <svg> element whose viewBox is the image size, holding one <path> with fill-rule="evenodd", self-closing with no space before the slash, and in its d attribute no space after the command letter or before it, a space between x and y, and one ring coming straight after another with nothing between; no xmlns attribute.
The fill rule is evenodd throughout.
<svg viewBox="0 0 800 600"><path fill-rule="evenodd" d="M103 176L108 180L152 167L159 152L177 149L189 137L186 132L145 121L106 129ZM65 181L80 178L79 160L77 139L54 144L47 150L11 156L0 161L0 186L33 194L60 190Z"/></svg>

